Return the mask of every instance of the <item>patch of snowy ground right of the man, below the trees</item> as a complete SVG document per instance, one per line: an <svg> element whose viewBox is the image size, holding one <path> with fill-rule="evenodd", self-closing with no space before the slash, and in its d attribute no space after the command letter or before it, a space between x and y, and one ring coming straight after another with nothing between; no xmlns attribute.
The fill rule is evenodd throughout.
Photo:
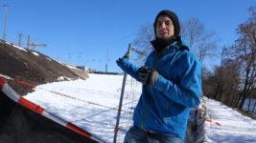
<svg viewBox="0 0 256 143"><path fill-rule="evenodd" d="M221 124L206 122L207 142L256 143L256 120L215 100L207 99L206 107L210 118Z"/></svg>

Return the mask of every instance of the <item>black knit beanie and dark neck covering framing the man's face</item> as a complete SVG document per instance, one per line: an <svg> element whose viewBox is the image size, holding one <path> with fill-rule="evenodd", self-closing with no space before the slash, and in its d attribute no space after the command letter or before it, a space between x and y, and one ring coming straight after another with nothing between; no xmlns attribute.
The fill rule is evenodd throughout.
<svg viewBox="0 0 256 143"><path fill-rule="evenodd" d="M160 16L169 16L175 26L175 35L169 39L158 39L157 37L155 37L155 40L151 41L151 44L153 45L153 47L157 50L157 51L161 51L163 48L167 47L168 45L172 44L173 42L175 42L176 40L178 40L180 38L179 36L179 31L180 31L180 26L179 26L179 20L177 18L177 15L175 14L175 12L171 11L171 10L161 10L153 23L153 28L154 28L154 34L156 35L156 22L157 19Z"/></svg>

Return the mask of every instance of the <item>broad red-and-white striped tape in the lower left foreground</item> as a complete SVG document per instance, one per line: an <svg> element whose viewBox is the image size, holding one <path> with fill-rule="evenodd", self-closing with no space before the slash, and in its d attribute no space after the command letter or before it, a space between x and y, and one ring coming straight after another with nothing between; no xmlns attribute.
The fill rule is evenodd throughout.
<svg viewBox="0 0 256 143"><path fill-rule="evenodd" d="M23 98L22 96L20 96L18 93L14 92L12 90L12 88L6 83L5 79L2 78L0 76L0 90L2 92L4 92L8 97L10 97L14 102L18 103L21 106L26 107L27 109L33 111L33 112L37 112L55 122L57 122L58 124L76 132L76 133L80 133L81 135L84 135L86 137L89 137L93 140L96 140L100 143L104 142L102 141L99 137L88 133L87 131L81 129L80 127L76 126L75 124L66 121L65 119L58 117L57 115L51 113L51 112L47 112L45 111L43 108L41 108L40 106L36 105L35 103Z"/></svg>

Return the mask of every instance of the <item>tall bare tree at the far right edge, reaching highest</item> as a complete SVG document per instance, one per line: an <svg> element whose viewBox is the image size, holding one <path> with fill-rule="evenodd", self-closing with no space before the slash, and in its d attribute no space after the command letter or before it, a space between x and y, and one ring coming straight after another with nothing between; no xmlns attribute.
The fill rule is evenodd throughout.
<svg viewBox="0 0 256 143"><path fill-rule="evenodd" d="M233 59L240 63L242 82L241 100L239 109L243 109L244 101L250 98L250 93L255 89L256 82L256 11L255 7L250 8L250 17L244 24L241 24L237 33L239 38L230 47ZM248 109L249 111L249 109Z"/></svg>

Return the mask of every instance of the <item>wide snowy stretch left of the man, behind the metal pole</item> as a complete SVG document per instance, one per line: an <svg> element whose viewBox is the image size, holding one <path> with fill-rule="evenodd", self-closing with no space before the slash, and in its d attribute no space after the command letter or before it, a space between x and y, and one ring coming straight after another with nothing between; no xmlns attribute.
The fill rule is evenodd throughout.
<svg viewBox="0 0 256 143"><path fill-rule="evenodd" d="M117 115L115 109L119 105L123 75L89 74L89 76L90 78L86 80L63 81L38 86L35 92L27 94L25 98L49 112L64 117L82 129L100 136L106 142L113 142ZM132 124L129 113L132 100L129 97L133 96L131 94L139 95L141 89L141 84L130 81L131 78L128 77L127 92L123 101L123 110L126 112L122 112L123 117L120 122L123 128L118 134L119 142L123 141L125 132ZM133 88L134 92L129 92L130 88ZM138 96L135 97L134 102L136 98ZM126 127L122 125L124 122L126 122Z"/></svg>

